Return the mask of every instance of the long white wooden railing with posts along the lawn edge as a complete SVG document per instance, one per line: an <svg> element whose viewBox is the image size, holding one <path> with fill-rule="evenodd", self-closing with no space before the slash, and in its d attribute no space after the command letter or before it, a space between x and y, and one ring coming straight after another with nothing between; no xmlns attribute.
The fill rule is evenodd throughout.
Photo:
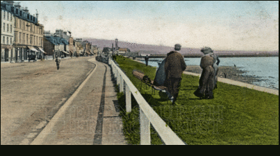
<svg viewBox="0 0 280 156"><path fill-rule="evenodd" d="M126 112L131 112L131 93L140 107L140 144L151 144L150 123L154 126L156 132L166 145L186 145L172 129L156 114L156 112L145 101L138 89L131 83L131 80L124 72L117 67L113 60L109 60L108 64L112 67L113 75L117 78L117 85L120 85L120 92L126 94Z"/></svg>

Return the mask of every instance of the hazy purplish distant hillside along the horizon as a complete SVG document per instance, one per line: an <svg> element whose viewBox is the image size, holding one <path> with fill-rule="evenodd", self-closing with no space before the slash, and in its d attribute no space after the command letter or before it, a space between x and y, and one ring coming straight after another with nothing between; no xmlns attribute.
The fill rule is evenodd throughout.
<svg viewBox="0 0 280 156"><path fill-rule="evenodd" d="M88 42L92 42L93 45L97 45L100 49L104 47L112 47L114 44L115 47L115 40L99 40L99 39L92 39L92 38L83 38L83 40L88 40ZM128 48L133 52L140 52L140 53L147 53L147 54L166 54L174 49L174 47L170 46L156 46L156 45L149 45L149 44L135 44L130 42L122 42L119 41L119 47L121 48ZM279 51L215 51L215 53L230 53L230 54L240 54L240 53L279 53ZM201 53L200 49L192 49L192 48L182 48L181 53L186 54L196 54Z"/></svg>

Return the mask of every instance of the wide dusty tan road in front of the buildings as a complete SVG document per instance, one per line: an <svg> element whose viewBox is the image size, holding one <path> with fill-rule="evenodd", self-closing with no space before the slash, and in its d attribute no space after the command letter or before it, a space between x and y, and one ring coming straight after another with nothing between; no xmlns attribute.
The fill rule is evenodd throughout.
<svg viewBox="0 0 280 156"><path fill-rule="evenodd" d="M30 144L95 67L91 57L1 64L1 145ZM31 135L33 134L33 135Z"/></svg>

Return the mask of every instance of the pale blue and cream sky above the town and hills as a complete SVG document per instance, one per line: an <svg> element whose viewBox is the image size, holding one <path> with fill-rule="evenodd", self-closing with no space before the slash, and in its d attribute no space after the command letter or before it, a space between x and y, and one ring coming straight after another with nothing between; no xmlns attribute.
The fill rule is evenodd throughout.
<svg viewBox="0 0 280 156"><path fill-rule="evenodd" d="M15 1L45 31L138 44L279 51L278 1Z"/></svg>

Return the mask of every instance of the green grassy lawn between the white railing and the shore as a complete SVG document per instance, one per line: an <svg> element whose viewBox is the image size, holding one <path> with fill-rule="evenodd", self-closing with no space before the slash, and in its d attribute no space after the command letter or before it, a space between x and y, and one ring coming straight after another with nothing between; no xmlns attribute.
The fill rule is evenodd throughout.
<svg viewBox="0 0 280 156"><path fill-rule="evenodd" d="M143 71L154 80L156 67L117 57L117 63L140 90L140 80L132 75L133 69ZM279 144L279 96L218 82L213 100L199 99L193 92L199 77L183 74L179 99L180 106L171 105L164 95L142 84L141 94L158 115L187 144ZM117 87L116 87L117 88ZM140 144L138 104L132 97L131 113L126 114L124 94L118 93L122 107L124 135L129 144ZM163 144L151 126L151 144Z"/></svg>

